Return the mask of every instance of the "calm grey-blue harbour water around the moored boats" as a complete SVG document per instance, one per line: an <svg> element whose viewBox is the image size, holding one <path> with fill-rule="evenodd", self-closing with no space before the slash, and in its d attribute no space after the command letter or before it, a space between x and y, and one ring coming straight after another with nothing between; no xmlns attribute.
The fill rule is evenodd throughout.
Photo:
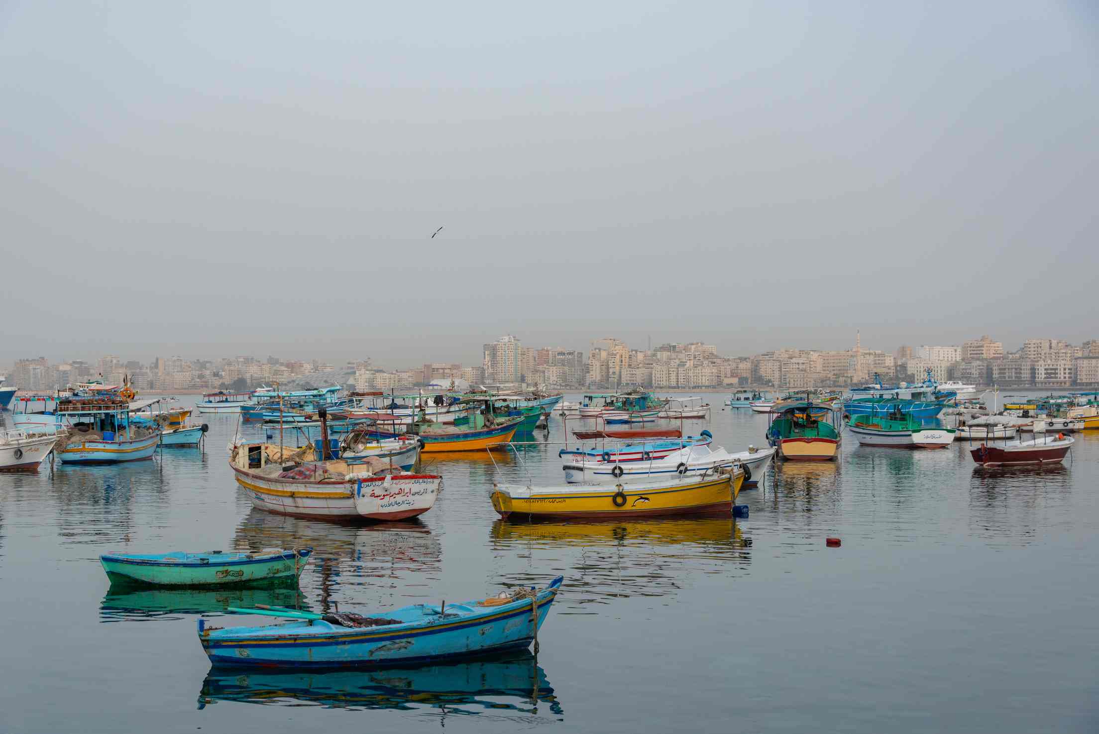
<svg viewBox="0 0 1099 734"><path fill-rule="evenodd" d="M764 444L766 416L725 397L687 431ZM197 418L204 452L0 476L0 731L1099 730L1099 433L1065 466L1010 470L845 434L837 463L744 491L746 520L500 521L493 477L563 481L555 416L521 458L434 463L420 522L343 526L252 509L225 460L236 416ZM112 592L98 563L293 545L315 548L300 598ZM558 574L536 660L221 672L195 632L229 605L384 610Z"/></svg>

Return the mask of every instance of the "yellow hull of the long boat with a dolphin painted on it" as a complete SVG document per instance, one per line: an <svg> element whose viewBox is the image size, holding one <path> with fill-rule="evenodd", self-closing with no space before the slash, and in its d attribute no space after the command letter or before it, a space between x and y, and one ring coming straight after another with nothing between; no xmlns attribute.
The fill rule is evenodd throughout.
<svg viewBox="0 0 1099 734"><path fill-rule="evenodd" d="M513 498L507 492L492 492L492 508L502 516L510 514L546 518L629 518L646 515L691 514L696 512L729 512L741 490L744 475L729 475L706 481L689 481L677 486L611 485L592 487L586 492L544 493L531 498ZM621 487L621 490L620 490ZM624 501L620 494L624 494ZM614 498L619 496L620 504Z"/></svg>

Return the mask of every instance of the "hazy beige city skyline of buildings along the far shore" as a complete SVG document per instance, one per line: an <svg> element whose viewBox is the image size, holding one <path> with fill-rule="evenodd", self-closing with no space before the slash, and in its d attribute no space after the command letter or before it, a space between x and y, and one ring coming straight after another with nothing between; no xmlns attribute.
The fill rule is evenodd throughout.
<svg viewBox="0 0 1099 734"><path fill-rule="evenodd" d="M340 385L356 390L406 390L424 386L462 389L477 385L557 387L736 388L748 385L784 389L886 380L962 380L976 385L1069 387L1099 385L1099 340L1072 344L1030 338L1015 349L988 335L961 345L902 345L888 353L864 346L856 332L847 349L784 348L747 355L722 355L704 342L674 342L645 349L615 337L592 340L589 351L523 345L506 334L481 345L479 364L423 363L387 369L368 356L344 363L291 360L269 355L189 360L157 357L152 363L116 355L95 362L51 364L45 357L18 360L9 386L24 390L63 388L92 379L124 380L137 389L245 390L282 382L312 387ZM877 379L875 380L877 381Z"/></svg>

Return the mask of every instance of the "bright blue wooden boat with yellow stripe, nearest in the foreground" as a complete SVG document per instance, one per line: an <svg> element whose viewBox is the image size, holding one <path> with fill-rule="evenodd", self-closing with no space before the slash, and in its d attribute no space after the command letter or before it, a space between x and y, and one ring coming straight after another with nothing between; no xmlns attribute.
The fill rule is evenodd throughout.
<svg viewBox="0 0 1099 734"><path fill-rule="evenodd" d="M211 663L225 666L378 667L521 649L536 640L563 580L477 601L403 607L384 616L233 608L293 621L215 629L200 618L199 642Z"/></svg>

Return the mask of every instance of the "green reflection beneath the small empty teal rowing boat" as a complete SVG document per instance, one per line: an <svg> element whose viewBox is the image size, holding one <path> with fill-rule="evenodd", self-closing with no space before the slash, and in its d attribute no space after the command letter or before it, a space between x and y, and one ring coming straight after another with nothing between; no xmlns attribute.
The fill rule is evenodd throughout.
<svg viewBox="0 0 1099 734"><path fill-rule="evenodd" d="M168 614L208 614L229 607L292 607L310 611L293 581L260 588L151 589L113 583L99 607L101 622L160 618Z"/></svg>

